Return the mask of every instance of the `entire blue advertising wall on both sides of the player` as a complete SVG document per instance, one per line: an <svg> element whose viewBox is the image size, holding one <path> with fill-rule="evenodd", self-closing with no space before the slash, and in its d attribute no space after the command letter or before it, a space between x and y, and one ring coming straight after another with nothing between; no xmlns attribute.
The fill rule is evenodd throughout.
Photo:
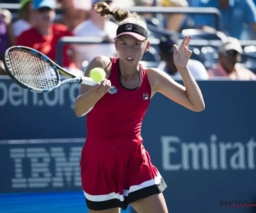
<svg viewBox="0 0 256 213"><path fill-rule="evenodd" d="M144 146L168 185L168 209L256 212L256 83L198 83L204 112L155 95L143 120ZM67 84L32 94L0 81L0 193L81 190L86 131L85 118L73 112L78 90Z"/></svg>

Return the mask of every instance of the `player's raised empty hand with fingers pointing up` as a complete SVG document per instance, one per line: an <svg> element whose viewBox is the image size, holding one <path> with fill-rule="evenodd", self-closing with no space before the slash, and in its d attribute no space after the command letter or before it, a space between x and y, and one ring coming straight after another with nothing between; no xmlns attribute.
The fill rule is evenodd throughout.
<svg viewBox="0 0 256 213"><path fill-rule="evenodd" d="M179 47L174 44L173 62L178 71L186 68L189 58L192 55L192 51L189 50L191 38L191 36L184 37L183 42Z"/></svg>

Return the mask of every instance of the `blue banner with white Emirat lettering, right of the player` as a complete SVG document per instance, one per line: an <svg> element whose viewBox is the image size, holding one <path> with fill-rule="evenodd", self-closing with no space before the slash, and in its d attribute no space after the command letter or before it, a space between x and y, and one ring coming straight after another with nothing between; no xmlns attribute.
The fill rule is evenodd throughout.
<svg viewBox="0 0 256 213"><path fill-rule="evenodd" d="M255 213L256 83L199 84L204 112L157 95L143 121L144 146L168 185L169 211Z"/></svg>

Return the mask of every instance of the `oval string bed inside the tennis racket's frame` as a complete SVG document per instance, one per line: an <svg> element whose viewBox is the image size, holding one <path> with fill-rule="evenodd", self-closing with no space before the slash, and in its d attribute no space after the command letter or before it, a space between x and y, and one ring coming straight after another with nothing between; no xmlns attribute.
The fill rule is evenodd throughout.
<svg viewBox="0 0 256 213"><path fill-rule="evenodd" d="M59 76L53 67L31 51L9 51L6 62L15 78L29 87L52 89L59 83Z"/></svg>

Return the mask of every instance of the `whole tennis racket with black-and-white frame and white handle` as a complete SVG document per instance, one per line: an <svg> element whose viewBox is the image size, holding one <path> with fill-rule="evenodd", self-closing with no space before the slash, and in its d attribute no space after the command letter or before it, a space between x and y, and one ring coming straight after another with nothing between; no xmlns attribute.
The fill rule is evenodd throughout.
<svg viewBox="0 0 256 213"><path fill-rule="evenodd" d="M48 93L63 83L96 85L92 78L75 76L38 50L24 46L13 46L7 49L3 64L15 83L32 92ZM61 80L60 73L67 76L67 79ZM117 89L111 87L108 92L115 94Z"/></svg>

